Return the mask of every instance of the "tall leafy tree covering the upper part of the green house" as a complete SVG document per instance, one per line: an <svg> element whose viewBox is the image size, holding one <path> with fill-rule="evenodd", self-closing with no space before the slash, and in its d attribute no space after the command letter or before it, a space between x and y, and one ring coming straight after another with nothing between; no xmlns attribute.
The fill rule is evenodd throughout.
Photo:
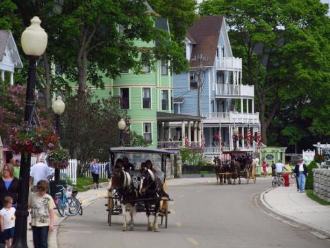
<svg viewBox="0 0 330 248"><path fill-rule="evenodd" d="M144 0L64 0L54 23L56 61L67 79L78 84L78 94L85 94L87 82L103 87L100 72L113 78L124 68L139 72L157 59L184 61L183 50L155 28L155 18ZM156 39L160 41L156 48L135 45Z"/></svg>

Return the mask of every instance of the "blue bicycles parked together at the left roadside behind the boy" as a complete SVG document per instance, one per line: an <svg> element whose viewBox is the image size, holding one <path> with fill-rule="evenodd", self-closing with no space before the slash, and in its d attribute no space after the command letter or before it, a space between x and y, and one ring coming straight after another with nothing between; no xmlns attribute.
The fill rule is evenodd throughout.
<svg viewBox="0 0 330 248"><path fill-rule="evenodd" d="M59 188L58 193L55 194L54 201L58 214L61 216L75 216L76 214L83 214L83 208L80 201L76 198L77 191L68 190L63 185L56 185Z"/></svg>

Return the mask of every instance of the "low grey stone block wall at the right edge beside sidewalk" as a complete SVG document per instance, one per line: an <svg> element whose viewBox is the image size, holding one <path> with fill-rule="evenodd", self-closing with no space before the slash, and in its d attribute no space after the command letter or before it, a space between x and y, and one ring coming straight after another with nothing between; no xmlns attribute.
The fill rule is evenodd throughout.
<svg viewBox="0 0 330 248"><path fill-rule="evenodd" d="M330 169L313 169L314 194L330 202Z"/></svg>

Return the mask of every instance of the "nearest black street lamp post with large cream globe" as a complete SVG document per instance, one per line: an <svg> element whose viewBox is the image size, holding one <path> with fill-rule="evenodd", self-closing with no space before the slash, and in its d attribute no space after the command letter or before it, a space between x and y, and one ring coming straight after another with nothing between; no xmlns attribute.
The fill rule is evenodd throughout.
<svg viewBox="0 0 330 248"><path fill-rule="evenodd" d="M31 25L26 28L21 37L24 53L30 61L28 70L28 83L26 86L24 121L32 120L34 107L34 86L36 85L36 60L45 52L47 47L47 34L40 26L39 17L31 19ZM19 172L19 197L17 199L16 221L12 247L27 248L26 229L28 221L28 198L30 184L31 154L21 153L21 169Z"/></svg>

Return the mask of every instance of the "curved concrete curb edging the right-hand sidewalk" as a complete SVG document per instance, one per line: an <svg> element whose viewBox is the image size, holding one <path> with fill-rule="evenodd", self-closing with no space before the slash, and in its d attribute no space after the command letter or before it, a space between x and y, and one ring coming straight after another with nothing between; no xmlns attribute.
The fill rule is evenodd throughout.
<svg viewBox="0 0 330 248"><path fill-rule="evenodd" d="M274 207L272 207L270 204L268 204L267 200L265 200L265 194L267 194L268 192L270 192L273 189L276 189L276 188L267 189L265 192L260 194L259 204L262 205L262 207L264 207L263 210L265 210L266 212L268 211L268 214L270 213L270 214L275 214L276 216L279 216L280 218L276 218L276 219L281 220L284 223L287 223L289 225L292 225L292 223L294 223L294 225L292 225L292 226L296 227L298 225L298 226L302 227L302 229L305 229L306 231L311 232L311 234L318 236L318 238L330 238L330 231L322 229L321 227L316 227L314 225L307 224L307 223L305 223L301 220L298 220L297 218L294 218L292 216L289 216L287 214L283 214L281 211L274 209Z"/></svg>

